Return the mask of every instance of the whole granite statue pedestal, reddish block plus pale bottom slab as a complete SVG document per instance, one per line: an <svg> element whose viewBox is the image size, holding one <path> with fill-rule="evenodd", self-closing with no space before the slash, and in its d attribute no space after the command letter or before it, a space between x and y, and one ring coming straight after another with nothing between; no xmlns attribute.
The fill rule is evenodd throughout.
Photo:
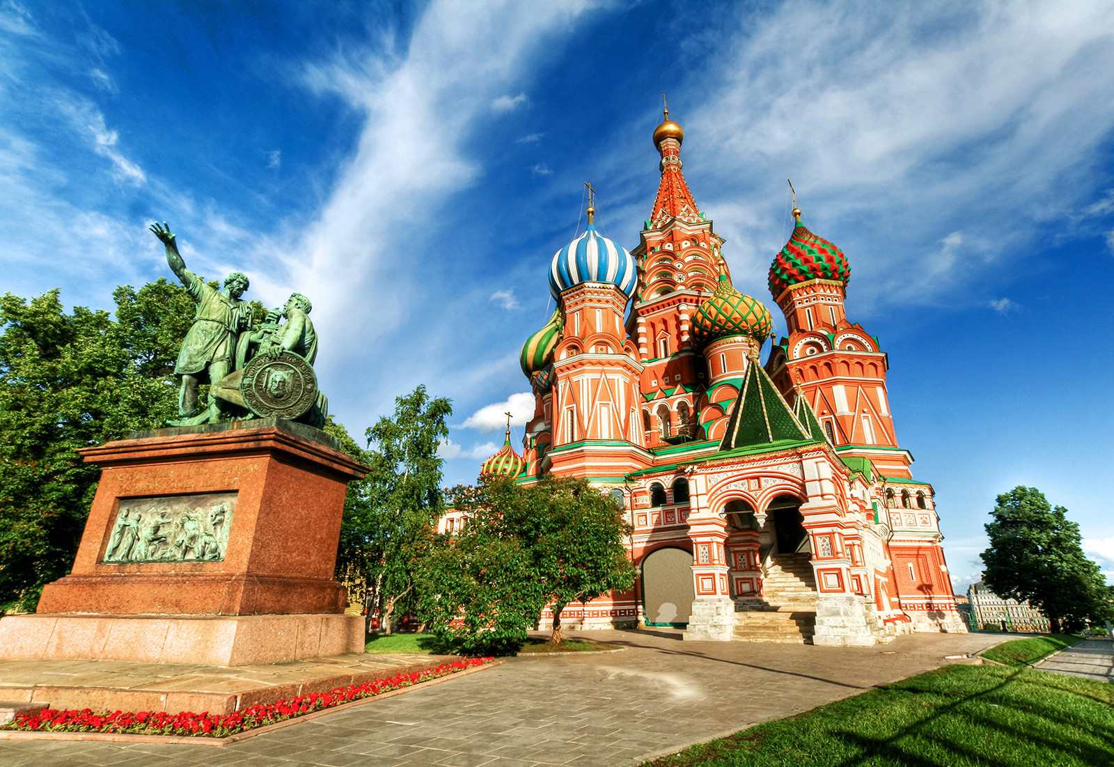
<svg viewBox="0 0 1114 767"><path fill-rule="evenodd" d="M72 571L36 614L0 620L0 659L245 665L363 650L333 569L348 482L367 470L333 437L274 419L133 437L80 451L104 471ZM195 507L192 528L179 512L163 538L120 542L128 509L149 531L157 509Z"/></svg>

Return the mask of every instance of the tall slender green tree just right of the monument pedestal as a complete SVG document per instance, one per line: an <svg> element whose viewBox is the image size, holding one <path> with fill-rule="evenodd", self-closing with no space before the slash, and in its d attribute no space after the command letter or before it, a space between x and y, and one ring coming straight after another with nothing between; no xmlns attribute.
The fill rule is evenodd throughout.
<svg viewBox="0 0 1114 767"><path fill-rule="evenodd" d="M359 545L368 561L372 602L387 633L391 619L417 604L417 573L429 557L437 522L444 512L437 451L449 435L452 404L430 397L424 386L394 401L394 416L367 431L368 473L359 508L344 528L348 545Z"/></svg>

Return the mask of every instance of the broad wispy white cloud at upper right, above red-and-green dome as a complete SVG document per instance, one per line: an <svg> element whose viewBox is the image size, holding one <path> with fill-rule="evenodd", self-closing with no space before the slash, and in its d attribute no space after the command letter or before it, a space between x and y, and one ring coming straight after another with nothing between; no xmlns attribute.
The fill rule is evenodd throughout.
<svg viewBox="0 0 1114 767"><path fill-rule="evenodd" d="M720 179L711 198L694 191L744 282L764 283L784 244L788 175L805 224L848 253L862 306L934 301L977 284L1100 178L1114 6L854 8L725 12L721 63L693 76L687 91L703 95L675 110L686 165ZM786 39L809 42L786 56ZM740 177L755 181L741 190Z"/></svg>

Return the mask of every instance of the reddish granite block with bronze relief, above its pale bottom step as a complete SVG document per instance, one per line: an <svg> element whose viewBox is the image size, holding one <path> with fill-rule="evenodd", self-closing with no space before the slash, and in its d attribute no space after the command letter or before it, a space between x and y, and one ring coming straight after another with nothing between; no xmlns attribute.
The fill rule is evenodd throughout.
<svg viewBox="0 0 1114 767"><path fill-rule="evenodd" d="M39 613L344 611L333 566L346 485L365 469L333 437L274 419L134 436L80 451L104 471L74 568Z"/></svg>

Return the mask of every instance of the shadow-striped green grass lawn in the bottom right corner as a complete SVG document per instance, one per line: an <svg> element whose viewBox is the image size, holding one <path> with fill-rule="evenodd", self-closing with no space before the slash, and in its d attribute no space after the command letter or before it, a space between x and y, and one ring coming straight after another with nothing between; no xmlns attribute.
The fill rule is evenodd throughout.
<svg viewBox="0 0 1114 767"><path fill-rule="evenodd" d="M1026 668L950 666L647 764L1114 765L1114 685Z"/></svg>

